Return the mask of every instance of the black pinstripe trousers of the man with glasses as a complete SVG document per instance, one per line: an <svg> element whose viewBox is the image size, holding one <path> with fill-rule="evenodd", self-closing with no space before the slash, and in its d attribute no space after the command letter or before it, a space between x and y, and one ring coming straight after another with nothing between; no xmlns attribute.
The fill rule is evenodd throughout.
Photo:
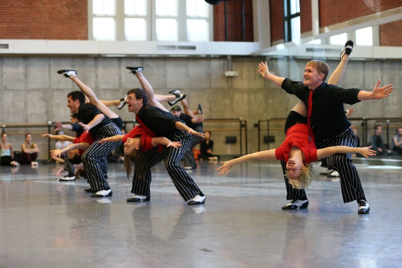
<svg viewBox="0 0 402 268"><path fill-rule="evenodd" d="M143 178L138 177L138 170L134 170L132 178L131 193L148 196L151 184L151 167L155 166L162 159L166 158L165 166L170 179L176 186L181 197L188 201L196 195L202 194L194 180L187 174L184 168L179 165L179 161L183 158L188 146L191 144L193 137L186 131L178 130L174 135L167 137L171 141L181 141L182 146L178 149L173 147L163 147L159 154L158 147L154 147L144 154Z"/></svg>

